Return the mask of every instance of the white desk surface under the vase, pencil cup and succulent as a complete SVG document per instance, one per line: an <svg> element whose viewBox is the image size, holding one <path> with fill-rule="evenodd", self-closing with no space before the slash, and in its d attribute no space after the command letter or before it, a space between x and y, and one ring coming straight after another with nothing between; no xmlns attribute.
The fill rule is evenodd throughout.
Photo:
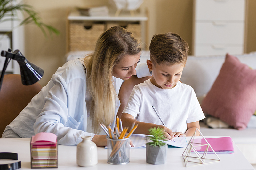
<svg viewBox="0 0 256 170"><path fill-rule="evenodd" d="M191 137L187 137L189 141ZM0 152L14 152L18 153L18 160L21 161L21 169L30 169L30 139L0 139ZM98 147L98 164L93 167L87 167L86 169L205 169L205 170L221 170L221 169L232 169L232 170L253 170L253 166L248 162L244 157L242 152L237 148L234 143L233 154L218 154L220 157L219 162L185 167L184 161L182 158L182 153L185 148L168 148L167 160L165 164L162 165L152 165L146 163L146 148L136 148L130 149L130 163L126 165L111 165L107 163L107 149ZM76 145L74 146L63 146L59 145L58 153L58 169L69 169L76 170L81 169L76 164ZM207 158L214 156L214 154L207 154ZM13 160L0 160L0 164L6 164L16 162Z"/></svg>

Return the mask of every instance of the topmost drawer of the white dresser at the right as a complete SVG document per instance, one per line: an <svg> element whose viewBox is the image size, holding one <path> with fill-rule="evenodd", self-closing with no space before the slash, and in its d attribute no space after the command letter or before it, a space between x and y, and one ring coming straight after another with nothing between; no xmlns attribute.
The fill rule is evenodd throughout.
<svg viewBox="0 0 256 170"><path fill-rule="evenodd" d="M245 0L196 0L196 20L245 19Z"/></svg>

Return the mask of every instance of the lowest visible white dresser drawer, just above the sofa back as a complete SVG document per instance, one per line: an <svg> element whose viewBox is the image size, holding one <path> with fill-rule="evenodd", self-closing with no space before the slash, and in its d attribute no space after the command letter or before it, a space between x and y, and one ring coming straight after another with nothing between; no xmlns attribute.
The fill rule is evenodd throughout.
<svg viewBox="0 0 256 170"><path fill-rule="evenodd" d="M225 55L229 54L243 54L243 45L196 45L194 55L195 56L205 56L205 55Z"/></svg>

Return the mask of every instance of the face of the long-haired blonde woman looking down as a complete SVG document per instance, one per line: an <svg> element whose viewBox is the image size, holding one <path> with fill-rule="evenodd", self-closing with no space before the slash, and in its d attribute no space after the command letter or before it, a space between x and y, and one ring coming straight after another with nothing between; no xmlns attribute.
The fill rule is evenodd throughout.
<svg viewBox="0 0 256 170"><path fill-rule="evenodd" d="M140 61L140 52L136 55L125 55L120 62L116 64L112 71L112 76L128 80L132 75L136 74L136 66Z"/></svg>

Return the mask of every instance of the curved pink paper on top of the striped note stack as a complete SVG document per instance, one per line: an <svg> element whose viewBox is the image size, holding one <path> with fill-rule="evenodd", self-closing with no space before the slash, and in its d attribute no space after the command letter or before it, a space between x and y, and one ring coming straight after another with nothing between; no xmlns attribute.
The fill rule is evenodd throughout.
<svg viewBox="0 0 256 170"><path fill-rule="evenodd" d="M40 132L31 138L32 145L53 145L57 142L57 135L54 133Z"/></svg>

